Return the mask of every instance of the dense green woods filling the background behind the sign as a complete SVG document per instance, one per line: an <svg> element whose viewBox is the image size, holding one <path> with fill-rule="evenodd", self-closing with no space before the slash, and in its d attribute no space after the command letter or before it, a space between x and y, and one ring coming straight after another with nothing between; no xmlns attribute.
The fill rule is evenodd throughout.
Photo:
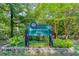
<svg viewBox="0 0 79 59"><path fill-rule="evenodd" d="M54 38L79 39L79 4L0 4L0 40L24 36L31 22L50 24Z"/></svg>

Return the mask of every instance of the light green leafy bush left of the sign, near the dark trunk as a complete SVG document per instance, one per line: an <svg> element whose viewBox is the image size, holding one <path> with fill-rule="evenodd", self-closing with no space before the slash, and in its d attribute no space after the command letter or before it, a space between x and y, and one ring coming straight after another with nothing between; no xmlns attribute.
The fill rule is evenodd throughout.
<svg viewBox="0 0 79 59"><path fill-rule="evenodd" d="M12 37L12 38L9 39L9 43L10 43L12 46L21 45L21 43L23 43L23 42L24 42L23 37L14 36L14 37Z"/></svg>

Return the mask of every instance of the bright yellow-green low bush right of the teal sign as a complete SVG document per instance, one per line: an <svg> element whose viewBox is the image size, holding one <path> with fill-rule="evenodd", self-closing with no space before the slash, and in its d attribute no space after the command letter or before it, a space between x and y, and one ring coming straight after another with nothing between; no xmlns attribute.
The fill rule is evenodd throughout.
<svg viewBox="0 0 79 59"><path fill-rule="evenodd" d="M73 41L70 39L55 39L53 43L56 48L70 48L73 46Z"/></svg>

